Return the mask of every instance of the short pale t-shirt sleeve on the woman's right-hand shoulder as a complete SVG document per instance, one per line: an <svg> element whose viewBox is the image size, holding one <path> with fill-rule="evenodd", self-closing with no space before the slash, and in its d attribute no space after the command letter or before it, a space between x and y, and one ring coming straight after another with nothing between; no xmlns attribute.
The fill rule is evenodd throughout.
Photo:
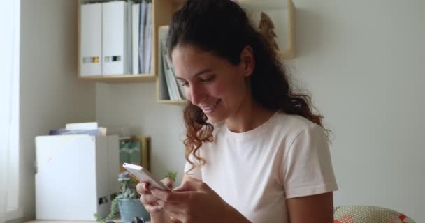
<svg viewBox="0 0 425 223"><path fill-rule="evenodd" d="M324 129L301 131L284 155L283 185L287 199L338 190Z"/></svg>

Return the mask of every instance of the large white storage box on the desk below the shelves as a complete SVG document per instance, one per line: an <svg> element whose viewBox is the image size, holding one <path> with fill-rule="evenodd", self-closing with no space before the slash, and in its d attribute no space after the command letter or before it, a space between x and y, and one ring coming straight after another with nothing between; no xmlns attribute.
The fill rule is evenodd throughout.
<svg viewBox="0 0 425 223"><path fill-rule="evenodd" d="M36 219L95 220L120 190L117 136L36 137Z"/></svg>

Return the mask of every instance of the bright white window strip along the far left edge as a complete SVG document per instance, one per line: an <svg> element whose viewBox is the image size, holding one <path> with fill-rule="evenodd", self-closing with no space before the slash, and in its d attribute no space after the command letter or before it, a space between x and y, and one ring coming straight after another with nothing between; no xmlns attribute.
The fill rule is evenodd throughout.
<svg viewBox="0 0 425 223"><path fill-rule="evenodd" d="M0 8L0 223L22 217L18 208L20 1Z"/></svg>

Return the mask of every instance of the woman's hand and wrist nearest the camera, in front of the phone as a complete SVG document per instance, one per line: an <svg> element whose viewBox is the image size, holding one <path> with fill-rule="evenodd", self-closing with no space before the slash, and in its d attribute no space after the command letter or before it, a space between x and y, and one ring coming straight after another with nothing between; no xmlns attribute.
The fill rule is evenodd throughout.
<svg viewBox="0 0 425 223"><path fill-rule="evenodd" d="M186 181L173 192L152 188L173 222L249 222L206 183Z"/></svg>

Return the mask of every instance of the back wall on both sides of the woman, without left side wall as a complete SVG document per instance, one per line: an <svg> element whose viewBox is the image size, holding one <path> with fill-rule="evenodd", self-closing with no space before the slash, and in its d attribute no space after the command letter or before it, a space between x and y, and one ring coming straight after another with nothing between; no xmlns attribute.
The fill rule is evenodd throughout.
<svg viewBox="0 0 425 223"><path fill-rule="evenodd" d="M337 206L363 204L425 222L425 1L294 0L294 77L333 133ZM182 174L181 109L154 84L99 84L96 118L152 137L154 174Z"/></svg>

